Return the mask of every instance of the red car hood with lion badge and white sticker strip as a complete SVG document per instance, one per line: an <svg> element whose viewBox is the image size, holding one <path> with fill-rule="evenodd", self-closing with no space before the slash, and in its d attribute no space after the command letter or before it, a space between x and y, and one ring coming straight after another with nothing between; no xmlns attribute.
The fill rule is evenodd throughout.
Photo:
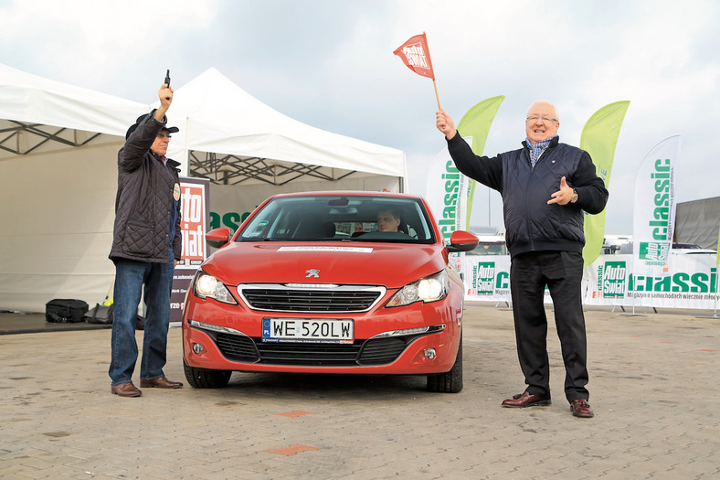
<svg viewBox="0 0 720 480"><path fill-rule="evenodd" d="M216 251L202 269L231 285L358 283L394 288L442 270L442 251L437 244L233 242Z"/></svg>

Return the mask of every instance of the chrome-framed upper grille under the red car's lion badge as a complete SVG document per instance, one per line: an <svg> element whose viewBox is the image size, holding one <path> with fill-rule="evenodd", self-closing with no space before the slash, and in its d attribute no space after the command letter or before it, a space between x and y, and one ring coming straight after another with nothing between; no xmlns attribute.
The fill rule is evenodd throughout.
<svg viewBox="0 0 720 480"><path fill-rule="evenodd" d="M289 288L284 285L238 285L250 308L268 312L366 312L385 294L385 287L334 285L332 288Z"/></svg>

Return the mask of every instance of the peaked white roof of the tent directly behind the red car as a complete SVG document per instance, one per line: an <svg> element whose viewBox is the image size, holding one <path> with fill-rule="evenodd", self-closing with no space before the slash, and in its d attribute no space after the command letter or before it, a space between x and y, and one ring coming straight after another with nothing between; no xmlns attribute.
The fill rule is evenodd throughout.
<svg viewBox="0 0 720 480"><path fill-rule="evenodd" d="M249 165L249 161L255 170L287 168L290 163L406 175L402 151L293 120L240 89L217 69L207 69L175 91L168 123L180 128L168 152L177 159L184 159L185 151L199 151L228 155L236 163ZM196 166L204 161L195 162ZM190 168L192 173L193 165Z"/></svg>

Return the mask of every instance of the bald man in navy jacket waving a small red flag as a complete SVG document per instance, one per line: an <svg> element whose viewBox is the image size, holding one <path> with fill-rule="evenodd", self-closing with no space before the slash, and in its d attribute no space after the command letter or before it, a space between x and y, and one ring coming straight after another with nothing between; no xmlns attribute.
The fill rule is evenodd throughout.
<svg viewBox="0 0 720 480"><path fill-rule="evenodd" d="M523 148L477 156L450 115L436 116L455 165L503 197L505 240L510 251L510 290L515 340L527 388L503 407L550 405L545 286L555 306L565 362L565 395L577 417L594 416L588 404L587 339L580 291L585 245L584 212L605 208L608 190L590 155L559 143L555 106L538 101L527 112Z"/></svg>

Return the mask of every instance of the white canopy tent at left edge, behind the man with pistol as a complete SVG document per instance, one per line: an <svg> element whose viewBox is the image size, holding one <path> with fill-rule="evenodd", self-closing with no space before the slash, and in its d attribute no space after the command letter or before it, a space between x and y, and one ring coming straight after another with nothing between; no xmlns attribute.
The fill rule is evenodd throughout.
<svg viewBox="0 0 720 480"><path fill-rule="evenodd" d="M0 310L101 302L117 151L148 105L0 65Z"/></svg>

